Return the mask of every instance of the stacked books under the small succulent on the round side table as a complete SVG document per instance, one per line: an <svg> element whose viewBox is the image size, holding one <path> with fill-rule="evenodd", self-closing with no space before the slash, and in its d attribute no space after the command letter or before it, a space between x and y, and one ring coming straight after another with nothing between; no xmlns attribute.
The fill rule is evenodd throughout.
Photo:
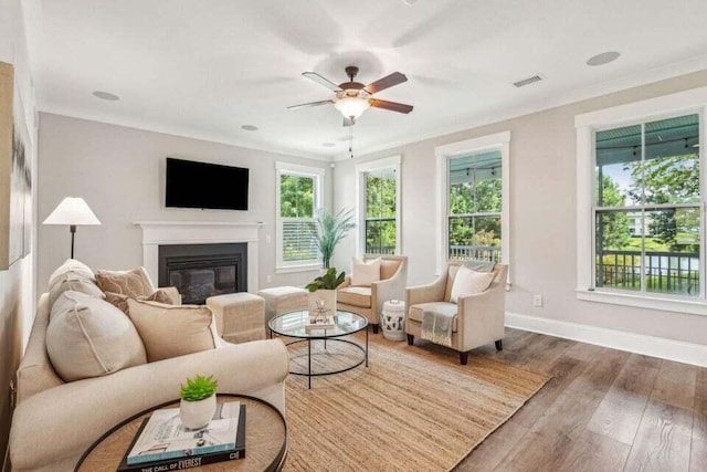
<svg viewBox="0 0 707 472"><path fill-rule="evenodd" d="M182 427L179 408L167 408L143 421L118 471L182 470L244 457L244 405L218 405L213 419L199 430Z"/></svg>

